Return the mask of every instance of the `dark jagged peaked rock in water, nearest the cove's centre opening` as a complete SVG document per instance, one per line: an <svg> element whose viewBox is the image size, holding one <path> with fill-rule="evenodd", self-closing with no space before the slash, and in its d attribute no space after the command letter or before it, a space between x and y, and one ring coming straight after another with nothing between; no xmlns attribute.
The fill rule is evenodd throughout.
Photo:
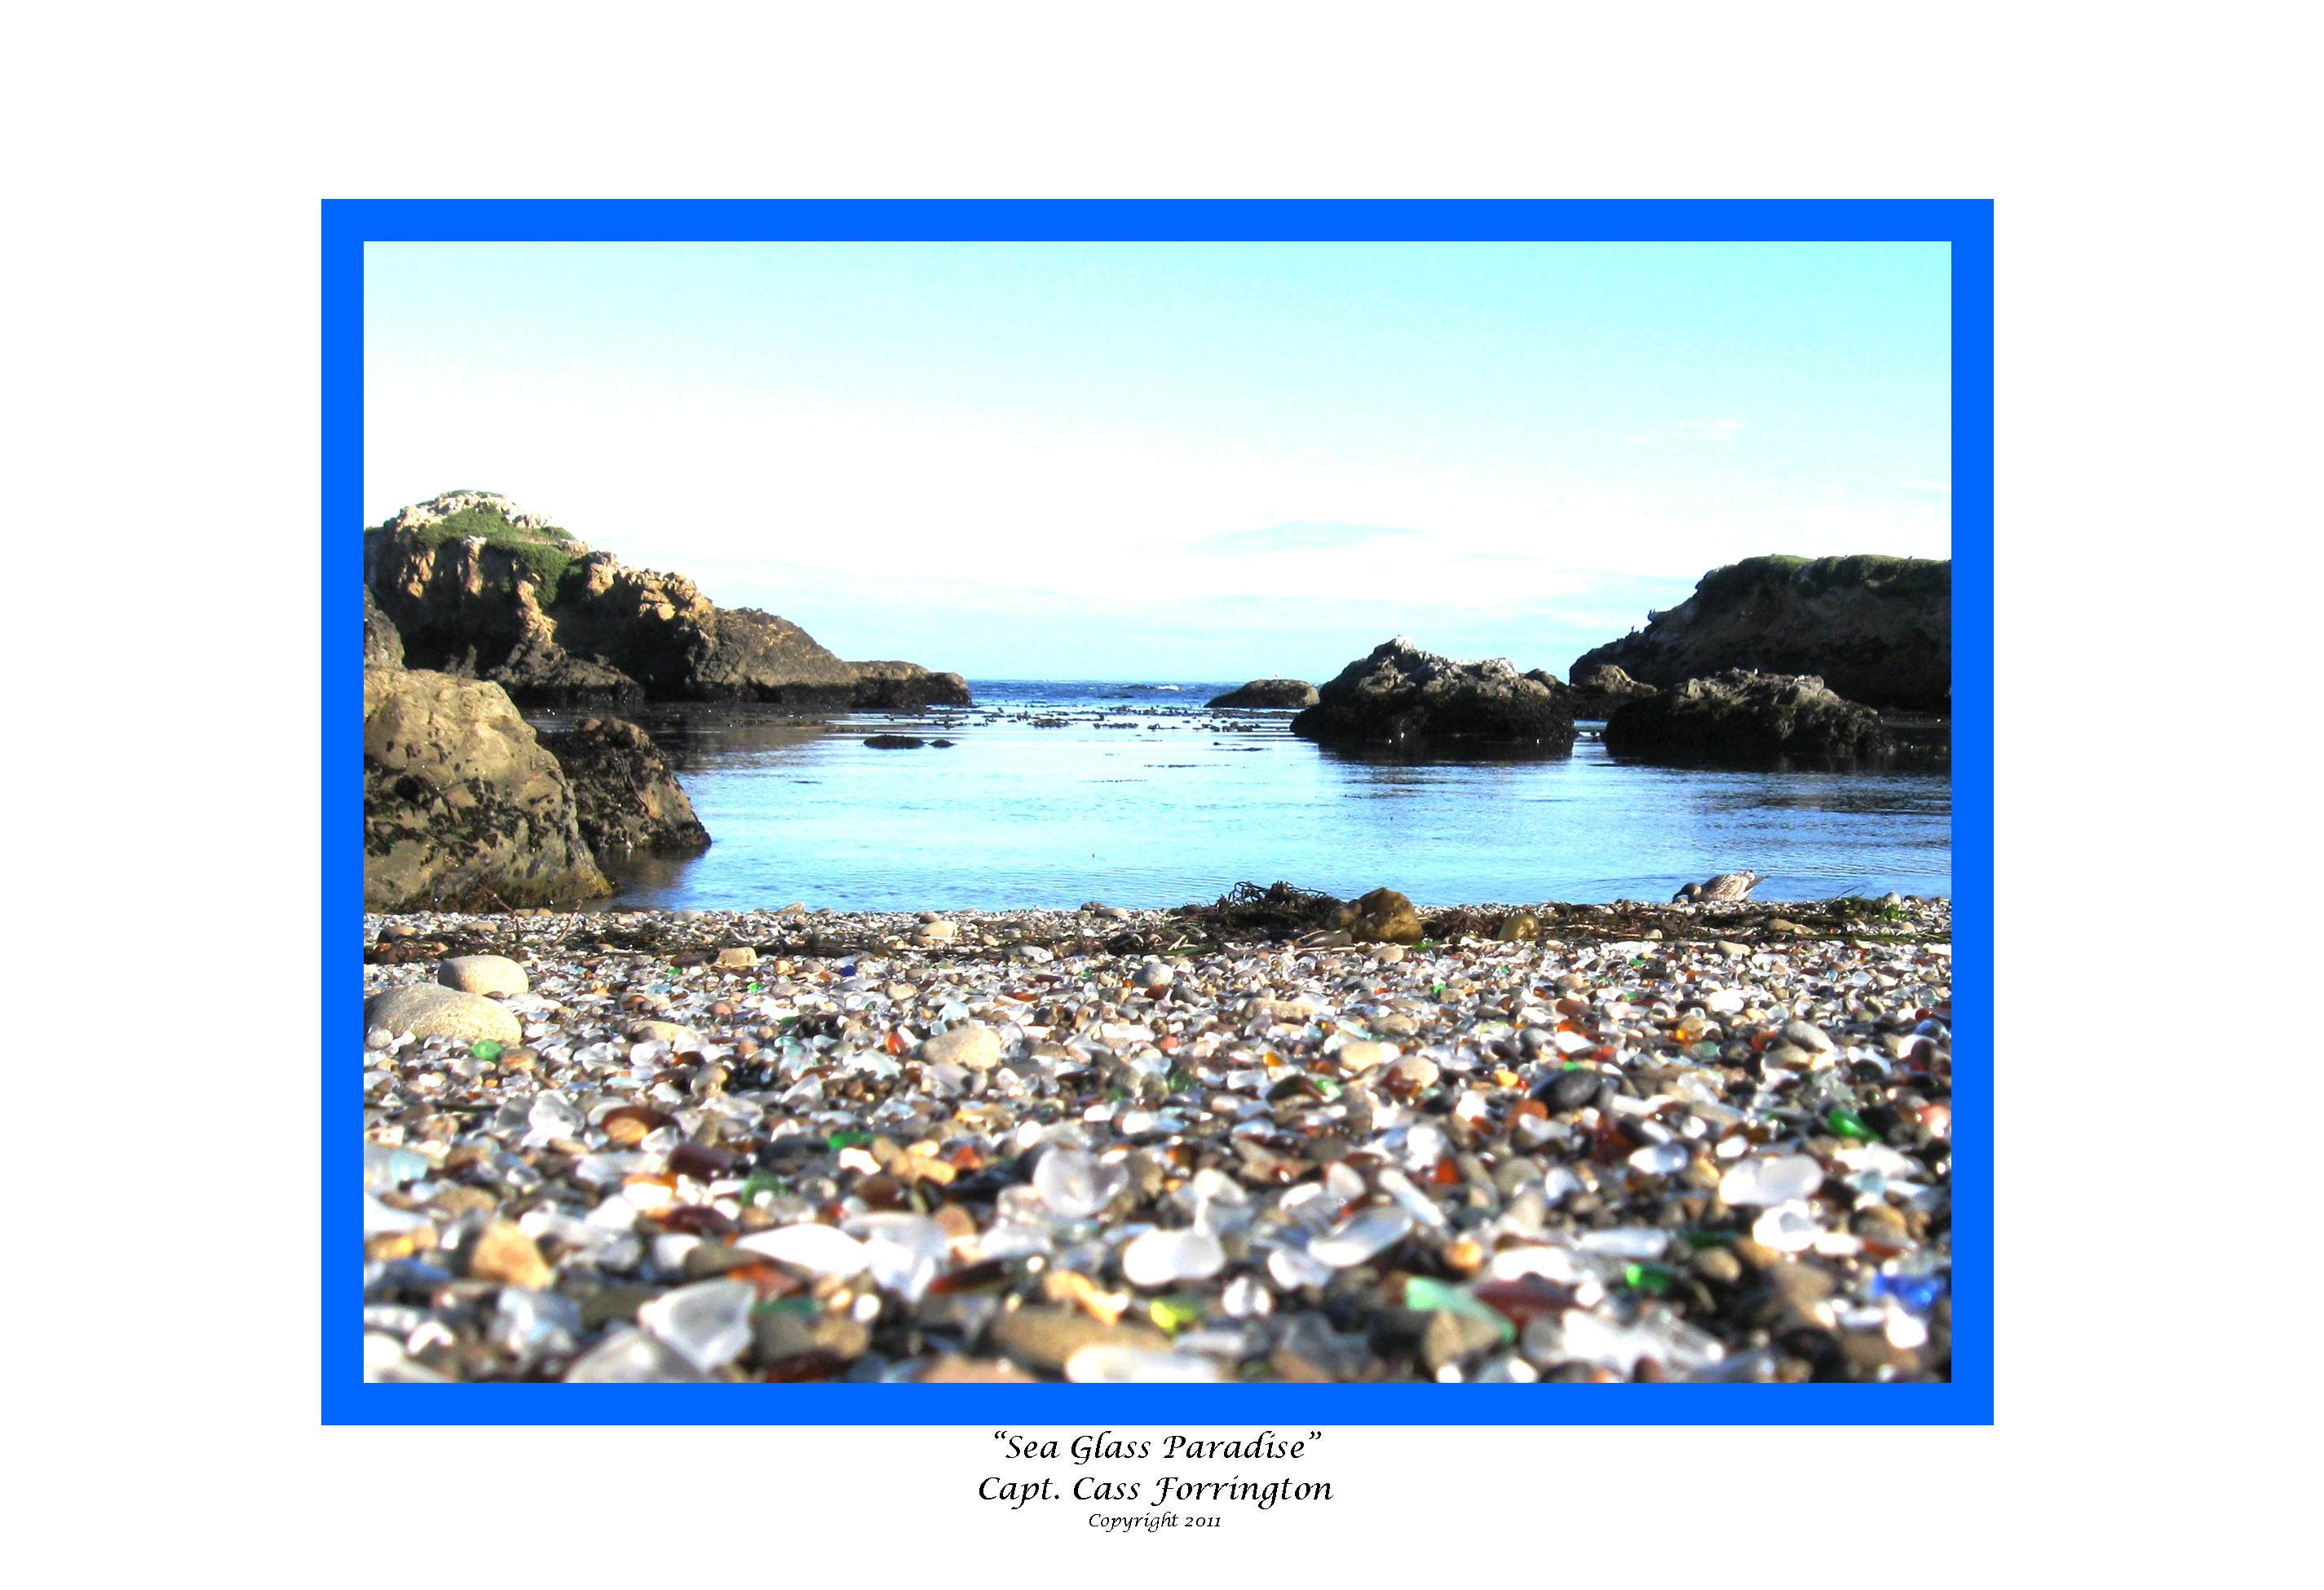
<svg viewBox="0 0 2324 1590"><path fill-rule="evenodd" d="M1564 753L1573 709L1501 658L1455 662L1401 635L1357 658L1292 718L1292 732L1327 746L1373 746L1413 755L1464 749Z"/></svg>

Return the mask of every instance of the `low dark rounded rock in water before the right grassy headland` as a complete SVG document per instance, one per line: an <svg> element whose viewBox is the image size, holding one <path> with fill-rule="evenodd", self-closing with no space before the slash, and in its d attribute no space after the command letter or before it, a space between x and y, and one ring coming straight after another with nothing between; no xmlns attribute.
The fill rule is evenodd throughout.
<svg viewBox="0 0 2324 1590"><path fill-rule="evenodd" d="M1729 669L1624 702L1606 718L1606 751L1713 767L1882 767L1896 742L1871 707L1813 674Z"/></svg>

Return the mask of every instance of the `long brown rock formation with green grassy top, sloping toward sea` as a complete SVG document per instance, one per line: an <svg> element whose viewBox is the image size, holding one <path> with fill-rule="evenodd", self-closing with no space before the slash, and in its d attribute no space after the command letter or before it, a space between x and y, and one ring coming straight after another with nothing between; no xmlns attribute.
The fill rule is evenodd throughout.
<svg viewBox="0 0 2324 1590"><path fill-rule="evenodd" d="M363 581L414 667L490 679L528 707L967 704L960 674L846 662L683 574L632 570L493 493L446 493L363 537Z"/></svg>

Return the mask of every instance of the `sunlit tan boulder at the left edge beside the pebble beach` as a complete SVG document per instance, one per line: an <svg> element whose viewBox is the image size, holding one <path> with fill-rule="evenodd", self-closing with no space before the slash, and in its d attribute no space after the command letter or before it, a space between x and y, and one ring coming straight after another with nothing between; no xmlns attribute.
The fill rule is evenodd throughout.
<svg viewBox="0 0 2324 1590"><path fill-rule="evenodd" d="M363 672L367 911L574 904L611 888L565 772L507 690Z"/></svg>

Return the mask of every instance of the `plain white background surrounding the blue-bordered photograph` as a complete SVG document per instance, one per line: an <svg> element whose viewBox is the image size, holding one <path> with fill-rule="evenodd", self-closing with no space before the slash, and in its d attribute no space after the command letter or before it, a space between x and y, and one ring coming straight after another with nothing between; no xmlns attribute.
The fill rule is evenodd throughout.
<svg viewBox="0 0 2324 1590"><path fill-rule="evenodd" d="M2287 14L19 19L28 1583L2259 1571L2312 1462L2315 951L2252 911L2312 893L2315 714L2238 721L2312 630L2312 53ZM1334 1506L1132 1544L978 1506L981 1430L318 1430L314 1120L344 1076L316 1039L321 195L1996 198L1999 1427L1334 1430L1301 1464Z"/></svg>

